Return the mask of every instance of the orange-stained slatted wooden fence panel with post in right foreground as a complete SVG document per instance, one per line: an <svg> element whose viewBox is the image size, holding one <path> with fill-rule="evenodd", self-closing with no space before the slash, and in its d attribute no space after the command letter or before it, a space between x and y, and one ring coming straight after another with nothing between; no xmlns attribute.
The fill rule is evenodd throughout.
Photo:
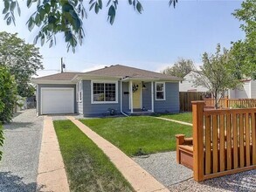
<svg viewBox="0 0 256 192"><path fill-rule="evenodd" d="M205 110L192 102L197 182L256 168L256 108Z"/></svg>

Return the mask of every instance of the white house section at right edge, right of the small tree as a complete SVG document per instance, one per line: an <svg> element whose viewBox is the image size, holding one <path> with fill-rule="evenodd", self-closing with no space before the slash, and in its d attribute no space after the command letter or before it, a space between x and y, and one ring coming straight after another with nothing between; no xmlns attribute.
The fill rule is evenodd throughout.
<svg viewBox="0 0 256 192"><path fill-rule="evenodd" d="M228 97L230 99L256 99L256 80L243 80L243 86L239 89L229 90Z"/></svg>

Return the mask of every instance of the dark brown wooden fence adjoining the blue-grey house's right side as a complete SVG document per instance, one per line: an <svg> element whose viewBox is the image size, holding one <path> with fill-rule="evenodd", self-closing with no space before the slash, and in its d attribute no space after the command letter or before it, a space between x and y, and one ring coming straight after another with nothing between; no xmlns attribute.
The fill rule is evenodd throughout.
<svg viewBox="0 0 256 192"><path fill-rule="evenodd" d="M204 92L180 92L179 93L180 112L191 112L192 111L191 101L203 100L206 95L211 96L210 93L204 93Z"/></svg>

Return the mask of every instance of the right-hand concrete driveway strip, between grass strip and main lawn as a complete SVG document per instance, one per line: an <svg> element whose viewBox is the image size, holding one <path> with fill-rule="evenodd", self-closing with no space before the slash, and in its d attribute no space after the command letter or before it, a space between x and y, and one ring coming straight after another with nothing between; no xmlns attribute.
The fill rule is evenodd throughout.
<svg viewBox="0 0 256 192"><path fill-rule="evenodd" d="M67 117L67 119L72 120L87 137L107 154L110 161L120 170L121 174L128 180L135 191L170 191L166 189L162 183L157 182L152 175L149 175L149 173L141 168L135 161L121 152L118 147L115 147L109 141L100 137L99 134L96 134L89 127L86 127L80 120L75 120L72 116Z"/></svg>

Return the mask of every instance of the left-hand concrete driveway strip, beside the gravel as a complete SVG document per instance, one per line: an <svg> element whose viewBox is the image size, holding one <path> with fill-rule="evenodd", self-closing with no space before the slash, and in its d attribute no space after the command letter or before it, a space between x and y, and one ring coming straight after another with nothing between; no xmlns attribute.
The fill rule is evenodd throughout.
<svg viewBox="0 0 256 192"><path fill-rule="evenodd" d="M45 116L42 145L38 165L38 190L68 192L64 162L59 150L52 117Z"/></svg>

